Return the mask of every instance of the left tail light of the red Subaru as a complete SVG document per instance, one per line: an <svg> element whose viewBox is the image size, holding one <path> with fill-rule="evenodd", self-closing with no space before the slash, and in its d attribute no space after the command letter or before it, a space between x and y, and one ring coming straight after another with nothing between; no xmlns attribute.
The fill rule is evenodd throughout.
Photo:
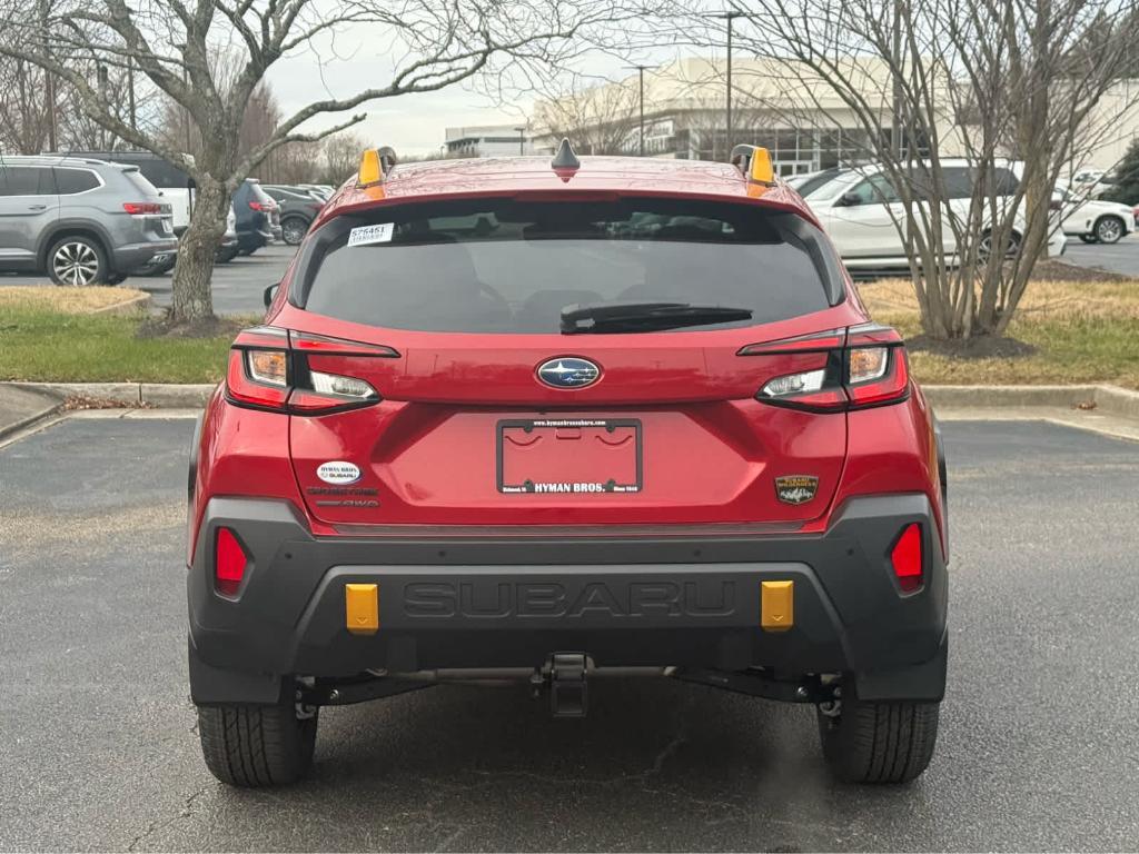
<svg viewBox="0 0 1139 854"><path fill-rule="evenodd" d="M358 377L314 370L309 356L345 355L398 359L378 344L254 327L237 336L229 353L226 396L249 409L297 414L327 414L370 407L380 397Z"/></svg>

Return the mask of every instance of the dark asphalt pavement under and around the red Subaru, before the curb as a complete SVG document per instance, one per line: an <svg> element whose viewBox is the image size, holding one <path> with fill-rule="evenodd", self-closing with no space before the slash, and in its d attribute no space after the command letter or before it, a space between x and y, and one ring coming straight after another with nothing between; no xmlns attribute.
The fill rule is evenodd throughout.
<svg viewBox="0 0 1139 854"><path fill-rule="evenodd" d="M0 447L0 848L1130 849L1139 444L945 425L951 662L909 788L834 783L813 714L665 681L584 721L523 690L326 709L313 779L202 764L187 698L192 422L72 418Z"/></svg>

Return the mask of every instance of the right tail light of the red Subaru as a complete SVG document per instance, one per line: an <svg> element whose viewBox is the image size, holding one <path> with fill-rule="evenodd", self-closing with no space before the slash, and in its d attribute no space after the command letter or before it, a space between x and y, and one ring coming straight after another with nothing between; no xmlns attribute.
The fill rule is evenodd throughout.
<svg viewBox="0 0 1139 854"><path fill-rule="evenodd" d="M739 355L816 355L810 370L776 377L756 397L812 412L845 412L909 397L910 373L901 336L866 323L770 344L752 344Z"/></svg>

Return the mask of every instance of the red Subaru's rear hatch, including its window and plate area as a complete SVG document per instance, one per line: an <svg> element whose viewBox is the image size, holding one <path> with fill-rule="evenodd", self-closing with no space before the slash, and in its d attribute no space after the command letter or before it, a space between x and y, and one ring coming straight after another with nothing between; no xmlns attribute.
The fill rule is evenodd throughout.
<svg viewBox="0 0 1139 854"><path fill-rule="evenodd" d="M846 417L756 394L829 356L740 351L847 322L836 276L813 225L755 204L482 198L333 220L274 321L308 389L290 418L308 509L344 526L817 518Z"/></svg>

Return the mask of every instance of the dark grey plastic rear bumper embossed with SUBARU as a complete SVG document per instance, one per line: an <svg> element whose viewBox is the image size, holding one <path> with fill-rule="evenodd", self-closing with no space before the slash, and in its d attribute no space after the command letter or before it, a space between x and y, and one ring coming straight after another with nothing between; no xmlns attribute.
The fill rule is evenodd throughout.
<svg viewBox="0 0 1139 854"><path fill-rule="evenodd" d="M888 563L924 532L923 589ZM249 556L239 594L214 592L219 526ZM867 698L940 699L947 573L924 495L847 502L821 535L316 539L287 502L210 501L189 568L191 692L271 701L280 676L541 667L851 672ZM793 581L794 627L760 627L763 581ZM379 630L345 627L347 583L375 583ZM270 696L272 695L272 696Z"/></svg>

